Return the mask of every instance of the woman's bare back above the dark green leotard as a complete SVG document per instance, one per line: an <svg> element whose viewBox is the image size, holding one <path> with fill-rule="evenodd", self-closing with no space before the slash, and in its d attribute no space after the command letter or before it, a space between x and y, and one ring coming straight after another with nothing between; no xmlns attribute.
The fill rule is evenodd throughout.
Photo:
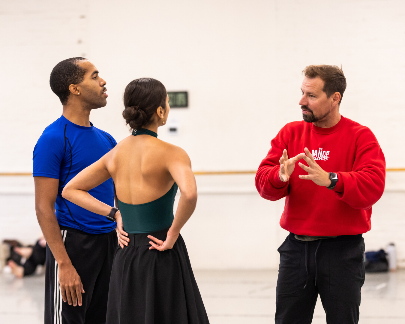
<svg viewBox="0 0 405 324"><path fill-rule="evenodd" d="M147 134L128 136L105 156L117 198L133 205L160 198L175 182L170 164L184 154L179 147Z"/></svg>

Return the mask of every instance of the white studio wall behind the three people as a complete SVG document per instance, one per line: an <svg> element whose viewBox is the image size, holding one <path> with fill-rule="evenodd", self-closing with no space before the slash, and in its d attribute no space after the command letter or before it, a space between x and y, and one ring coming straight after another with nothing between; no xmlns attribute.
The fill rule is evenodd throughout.
<svg viewBox="0 0 405 324"><path fill-rule="evenodd" d="M179 136L168 136L167 127L159 136L183 147L195 171L255 170L279 129L301 119L301 70L342 64L348 85L341 113L373 130L388 168L405 168L401 0L3 2L0 173L32 171L36 140L61 114L49 74L73 56L89 58L107 81L108 104L91 120L117 141L129 134L121 117L129 81L154 77L168 91L188 90L190 107L172 109L169 117L179 122ZM390 173L391 189L375 205L365 237L373 249L395 241L405 260L401 177ZM183 230L196 266L277 266L283 202L260 198L252 178L198 177L198 208ZM11 195L32 183L18 179L0 181L6 194L0 202L9 208L0 215L0 238L18 233L33 240L39 234L33 196ZM218 194L233 187L244 193ZM269 245L257 249L256 236Z"/></svg>

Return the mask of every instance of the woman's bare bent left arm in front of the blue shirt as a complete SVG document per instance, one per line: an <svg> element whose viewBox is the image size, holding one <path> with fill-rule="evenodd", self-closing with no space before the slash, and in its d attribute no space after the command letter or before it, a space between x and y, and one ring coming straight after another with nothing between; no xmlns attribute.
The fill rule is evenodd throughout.
<svg viewBox="0 0 405 324"><path fill-rule="evenodd" d="M90 189L97 187L104 181L107 181L111 178L111 175L105 166L104 159L105 156L80 171L72 180L70 180L65 185L65 188L62 191L62 196L72 203L89 211L92 211L93 213L107 216L110 213L112 206L103 203L102 201L94 198L91 194L88 193ZM115 198L115 203L118 204ZM117 232L118 243L119 246L123 248L124 245L128 245L128 233L124 231L124 228L122 226L121 213L119 211L115 213L114 218L117 222L115 231Z"/></svg>

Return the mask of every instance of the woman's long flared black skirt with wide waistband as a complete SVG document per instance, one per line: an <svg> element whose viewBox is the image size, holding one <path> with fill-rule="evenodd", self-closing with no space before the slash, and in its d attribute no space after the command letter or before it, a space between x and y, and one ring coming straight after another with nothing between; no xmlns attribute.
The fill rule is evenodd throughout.
<svg viewBox="0 0 405 324"><path fill-rule="evenodd" d="M147 235L164 241L167 230L128 234L117 247L106 324L209 324L181 235L172 249L149 250Z"/></svg>

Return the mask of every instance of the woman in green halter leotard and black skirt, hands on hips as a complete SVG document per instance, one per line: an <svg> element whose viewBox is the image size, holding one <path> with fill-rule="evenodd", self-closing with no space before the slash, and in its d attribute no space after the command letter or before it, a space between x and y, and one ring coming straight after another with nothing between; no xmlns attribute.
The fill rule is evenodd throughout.
<svg viewBox="0 0 405 324"><path fill-rule="evenodd" d="M170 110L166 89L155 79L131 81L124 106L132 135L76 175L62 192L72 203L117 222L121 248L114 257L106 323L208 324L180 234L197 202L190 158L157 138ZM118 211L88 192L110 177ZM181 196L174 217L177 188Z"/></svg>

